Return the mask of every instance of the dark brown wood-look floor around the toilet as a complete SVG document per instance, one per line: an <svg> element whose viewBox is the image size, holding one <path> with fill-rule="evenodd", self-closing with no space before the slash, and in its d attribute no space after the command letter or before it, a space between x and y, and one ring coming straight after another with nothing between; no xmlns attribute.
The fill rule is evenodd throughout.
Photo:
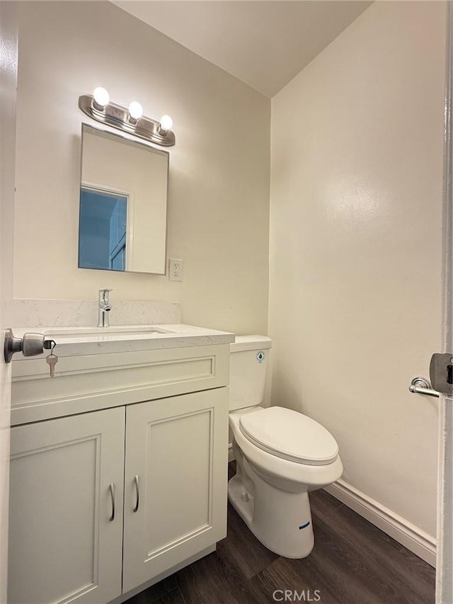
<svg viewBox="0 0 453 604"><path fill-rule="evenodd" d="M273 554L229 506L228 536L216 552L126 604L435 602L432 566L326 491L314 491L310 501L315 545L308 557L291 560Z"/></svg>

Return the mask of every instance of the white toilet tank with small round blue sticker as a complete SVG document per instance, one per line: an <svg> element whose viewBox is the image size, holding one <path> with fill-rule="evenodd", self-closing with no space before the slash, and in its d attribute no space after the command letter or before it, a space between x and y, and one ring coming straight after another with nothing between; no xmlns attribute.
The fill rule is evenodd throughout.
<svg viewBox="0 0 453 604"><path fill-rule="evenodd" d="M230 345L229 409L244 409L263 401L272 340L268 336L236 336Z"/></svg>

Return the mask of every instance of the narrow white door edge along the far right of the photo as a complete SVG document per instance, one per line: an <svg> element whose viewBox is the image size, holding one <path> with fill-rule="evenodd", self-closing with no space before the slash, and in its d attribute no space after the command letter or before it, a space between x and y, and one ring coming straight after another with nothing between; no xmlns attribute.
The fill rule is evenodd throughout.
<svg viewBox="0 0 453 604"><path fill-rule="evenodd" d="M453 11L447 33L447 99L444 171L444 353L453 353ZM437 489L436 603L453 602L453 397L440 397L439 474Z"/></svg>

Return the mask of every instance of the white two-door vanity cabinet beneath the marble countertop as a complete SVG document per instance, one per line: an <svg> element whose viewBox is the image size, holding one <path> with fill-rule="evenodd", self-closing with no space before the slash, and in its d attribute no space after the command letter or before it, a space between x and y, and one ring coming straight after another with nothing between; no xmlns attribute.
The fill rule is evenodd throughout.
<svg viewBox="0 0 453 604"><path fill-rule="evenodd" d="M120 602L226 536L229 346L130 360L13 363L8 604Z"/></svg>

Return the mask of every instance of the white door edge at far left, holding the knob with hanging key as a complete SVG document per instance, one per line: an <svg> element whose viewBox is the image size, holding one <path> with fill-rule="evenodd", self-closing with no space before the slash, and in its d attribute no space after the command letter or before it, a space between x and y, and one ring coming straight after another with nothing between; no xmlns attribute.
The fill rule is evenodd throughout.
<svg viewBox="0 0 453 604"><path fill-rule="evenodd" d="M17 3L0 3L0 334L12 298L13 203L16 161ZM3 344L3 338L1 339ZM0 359L0 602L6 602L11 364Z"/></svg>

